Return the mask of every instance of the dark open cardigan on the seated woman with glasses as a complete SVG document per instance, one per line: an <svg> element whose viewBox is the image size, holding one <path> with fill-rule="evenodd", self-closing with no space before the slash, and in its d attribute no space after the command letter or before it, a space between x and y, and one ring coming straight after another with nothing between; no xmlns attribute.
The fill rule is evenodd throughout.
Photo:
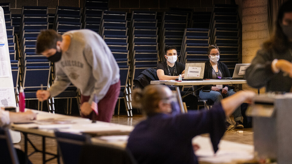
<svg viewBox="0 0 292 164"><path fill-rule="evenodd" d="M205 62L204 79L212 79L213 67L210 64L210 60ZM231 77L228 67L224 63L218 61L218 69L221 71L223 77ZM224 87L229 88L228 85L224 85ZM203 90L210 91L211 88L212 85L206 85L203 87Z"/></svg>

